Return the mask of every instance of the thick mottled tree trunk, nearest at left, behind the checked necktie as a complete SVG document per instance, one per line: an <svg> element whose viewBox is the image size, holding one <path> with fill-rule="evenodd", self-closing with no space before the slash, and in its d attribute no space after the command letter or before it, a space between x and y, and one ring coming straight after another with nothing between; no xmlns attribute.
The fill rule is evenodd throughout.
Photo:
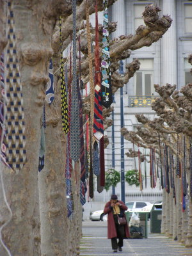
<svg viewBox="0 0 192 256"><path fill-rule="evenodd" d="M28 162L19 173L3 168L6 195L13 212L12 220L3 230L3 238L12 255L35 256L40 255L37 200L40 118L48 78L47 63L52 52L51 35L54 22L50 17L48 20L43 15L43 10L47 8L46 1L36 3L15 0L13 3L23 88Z"/></svg>

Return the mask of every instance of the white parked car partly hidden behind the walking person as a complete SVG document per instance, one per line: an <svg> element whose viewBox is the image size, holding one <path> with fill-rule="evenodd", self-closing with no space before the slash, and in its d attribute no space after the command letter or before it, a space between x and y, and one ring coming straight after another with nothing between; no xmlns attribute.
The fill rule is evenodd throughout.
<svg viewBox="0 0 192 256"><path fill-rule="evenodd" d="M149 205L149 202L143 202L143 201L132 201L132 202L125 202L125 205L127 205L128 209L127 211L141 211L143 207L146 205ZM153 205L153 204L152 204ZM108 214L104 214L103 210L94 211L90 213L90 220L101 220L101 221L107 221L108 220Z"/></svg>

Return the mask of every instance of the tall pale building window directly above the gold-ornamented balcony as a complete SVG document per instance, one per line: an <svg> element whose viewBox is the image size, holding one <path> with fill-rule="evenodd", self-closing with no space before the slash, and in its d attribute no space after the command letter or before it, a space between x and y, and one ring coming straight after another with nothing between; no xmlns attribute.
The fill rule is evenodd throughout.
<svg viewBox="0 0 192 256"><path fill-rule="evenodd" d="M154 93L153 74L154 60L139 59L140 70L134 76L134 88L136 96L151 96Z"/></svg>

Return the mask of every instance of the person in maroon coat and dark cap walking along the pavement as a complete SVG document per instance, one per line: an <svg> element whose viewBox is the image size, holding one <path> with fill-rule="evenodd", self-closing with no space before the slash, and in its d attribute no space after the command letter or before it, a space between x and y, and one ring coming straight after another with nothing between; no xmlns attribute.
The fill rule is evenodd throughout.
<svg viewBox="0 0 192 256"><path fill-rule="evenodd" d="M111 195L111 200L104 207L104 214L108 214L108 239L111 239L113 252L122 252L124 238L129 238L127 221L125 225L118 223L118 216L125 217L127 206L118 200L116 195ZM118 239L118 242L117 242Z"/></svg>

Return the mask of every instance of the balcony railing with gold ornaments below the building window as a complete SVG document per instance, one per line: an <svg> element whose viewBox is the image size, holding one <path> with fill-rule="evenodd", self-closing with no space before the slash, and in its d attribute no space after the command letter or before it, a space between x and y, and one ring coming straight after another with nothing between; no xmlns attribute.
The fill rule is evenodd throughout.
<svg viewBox="0 0 192 256"><path fill-rule="evenodd" d="M150 107L156 96L129 96L129 107Z"/></svg>

